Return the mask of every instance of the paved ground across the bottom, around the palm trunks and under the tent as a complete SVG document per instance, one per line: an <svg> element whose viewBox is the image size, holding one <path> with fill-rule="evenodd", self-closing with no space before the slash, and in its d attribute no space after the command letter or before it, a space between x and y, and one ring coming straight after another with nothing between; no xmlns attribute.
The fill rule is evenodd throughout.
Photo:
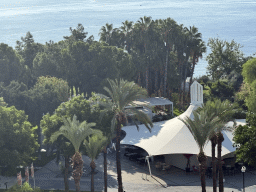
<svg viewBox="0 0 256 192"><path fill-rule="evenodd" d="M123 154L123 151L122 151ZM84 167L86 169L84 176L81 178L80 186L81 190L90 191L90 167L89 159L83 156ZM108 154L108 191L117 192L117 174L116 174L116 162L115 152ZM194 174L186 174L177 168L172 168L167 174L162 171L156 171L152 167L152 173L155 176L153 179L148 175L148 167L139 165L136 162L129 161L123 155L121 156L122 165L122 179L124 191L148 191L148 192L196 192L201 191L200 176ZM95 175L95 190L103 191L104 180L103 180L103 155L100 155L96 160L96 169L98 173ZM147 180L145 178L147 177ZM24 178L23 178L24 179ZM1 178L1 187L4 181L8 180L8 188L16 183L16 177L12 178ZM30 183L33 186L33 180L30 178ZM63 175L60 173L58 165L51 161L45 167L35 172L35 183L37 187L41 189L64 189ZM167 186L164 188L162 185ZM246 192L256 192L256 171L245 174L245 185ZM69 186L71 190L75 189L74 181L69 180ZM207 192L212 191L212 179L206 178ZM238 192L242 191L242 174L235 176L225 177L225 192Z"/></svg>

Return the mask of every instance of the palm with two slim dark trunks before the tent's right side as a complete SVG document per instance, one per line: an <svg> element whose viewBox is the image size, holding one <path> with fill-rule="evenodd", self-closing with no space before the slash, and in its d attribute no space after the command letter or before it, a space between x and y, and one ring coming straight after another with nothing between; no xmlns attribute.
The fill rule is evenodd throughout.
<svg viewBox="0 0 256 192"><path fill-rule="evenodd" d="M236 112L236 105L232 105L230 101L225 100L221 102L220 99L216 99L214 101L207 101L206 104L202 108L198 108L198 111L206 110L209 115L218 116L220 121L223 123L223 126L220 126L216 129L215 134L212 136L212 168L213 168L213 191L217 191L217 183L216 183L216 162L215 162L215 146L217 145L218 150L218 169L219 169L219 191L223 191L223 171L221 165L221 148L222 142L224 141L222 131L233 131L233 127L224 126L229 121L234 121L233 115ZM235 126L235 124L234 124Z"/></svg>

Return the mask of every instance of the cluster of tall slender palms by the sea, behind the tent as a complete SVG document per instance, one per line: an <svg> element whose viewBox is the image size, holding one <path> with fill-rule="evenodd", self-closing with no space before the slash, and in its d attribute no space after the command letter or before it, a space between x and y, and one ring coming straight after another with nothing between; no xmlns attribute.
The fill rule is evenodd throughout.
<svg viewBox="0 0 256 192"><path fill-rule="evenodd" d="M136 75L132 80L149 95L163 96L163 87L180 89L206 51L195 26L187 28L171 18L152 20L144 16L136 23L125 21L118 29L107 23L99 35L100 41L124 48L132 56Z"/></svg>

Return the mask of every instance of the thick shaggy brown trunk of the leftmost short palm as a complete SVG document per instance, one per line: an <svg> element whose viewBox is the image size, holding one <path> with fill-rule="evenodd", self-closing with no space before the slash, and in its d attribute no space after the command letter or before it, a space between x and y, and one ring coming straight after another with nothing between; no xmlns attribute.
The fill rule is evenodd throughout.
<svg viewBox="0 0 256 192"><path fill-rule="evenodd" d="M80 191L80 178L83 172L83 159L79 152L76 152L73 159L73 178L75 181L76 191Z"/></svg>

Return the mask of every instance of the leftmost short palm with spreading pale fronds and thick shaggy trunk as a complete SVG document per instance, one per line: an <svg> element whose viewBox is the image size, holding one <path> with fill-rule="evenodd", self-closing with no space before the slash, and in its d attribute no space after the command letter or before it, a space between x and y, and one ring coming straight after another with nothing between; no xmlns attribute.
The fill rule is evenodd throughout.
<svg viewBox="0 0 256 192"><path fill-rule="evenodd" d="M82 176L83 169L83 159L81 153L79 152L79 148L81 143L85 138L92 134L100 135L101 132L99 130L94 130L95 123L87 123L83 121L79 123L76 115L73 116L73 120L70 118L63 118L64 125L62 125L59 131L52 134L50 141L54 142L60 135L66 137L73 145L75 149L75 154L72 157L72 165L73 165L73 178L76 185L76 191L80 191L80 178Z"/></svg>

